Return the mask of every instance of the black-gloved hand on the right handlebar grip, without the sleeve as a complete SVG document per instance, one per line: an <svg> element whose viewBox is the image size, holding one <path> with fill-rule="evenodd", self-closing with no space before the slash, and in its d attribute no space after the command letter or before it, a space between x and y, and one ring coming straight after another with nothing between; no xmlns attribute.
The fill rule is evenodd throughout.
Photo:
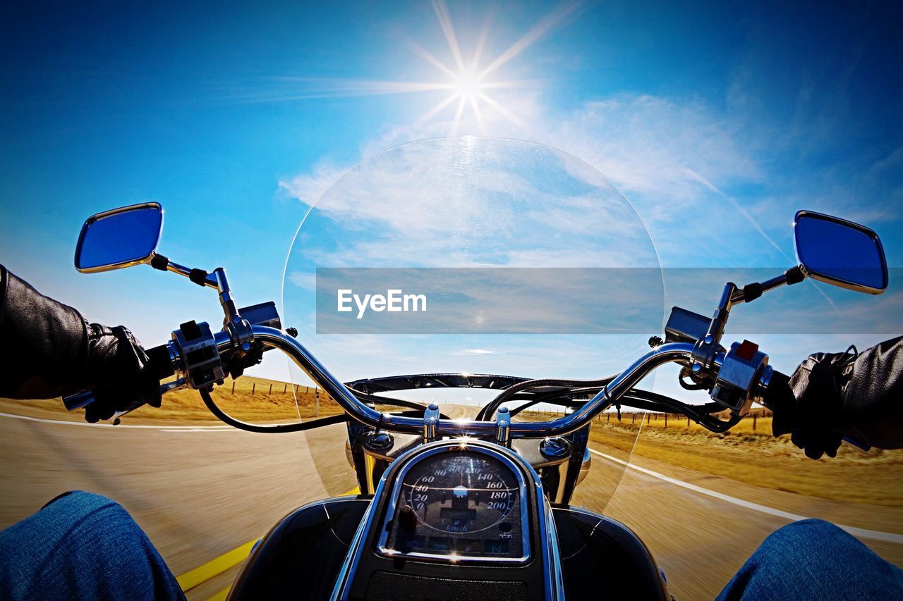
<svg viewBox="0 0 903 601"><path fill-rule="evenodd" d="M786 383L787 393L773 399L774 435L789 433L808 458L836 457L843 439L843 388L855 358L851 347L844 353L815 353L800 364Z"/></svg>

